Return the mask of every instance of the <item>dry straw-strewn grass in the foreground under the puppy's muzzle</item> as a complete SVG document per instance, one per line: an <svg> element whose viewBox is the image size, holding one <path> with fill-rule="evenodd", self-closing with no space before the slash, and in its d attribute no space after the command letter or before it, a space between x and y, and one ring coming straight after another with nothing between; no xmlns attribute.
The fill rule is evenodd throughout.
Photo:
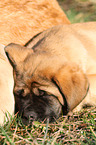
<svg viewBox="0 0 96 145"><path fill-rule="evenodd" d="M72 116L59 118L47 125L33 122L24 126L17 115L0 127L1 144L96 144L96 108L83 109Z"/></svg>

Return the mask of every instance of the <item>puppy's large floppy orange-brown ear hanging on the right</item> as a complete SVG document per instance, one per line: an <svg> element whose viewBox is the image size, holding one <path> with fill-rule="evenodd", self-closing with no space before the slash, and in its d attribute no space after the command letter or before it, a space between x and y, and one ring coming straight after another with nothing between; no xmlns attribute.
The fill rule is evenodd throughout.
<svg viewBox="0 0 96 145"><path fill-rule="evenodd" d="M53 81L64 98L64 104L67 103L69 111L83 100L89 89L86 75L76 65L60 68L53 77Z"/></svg>

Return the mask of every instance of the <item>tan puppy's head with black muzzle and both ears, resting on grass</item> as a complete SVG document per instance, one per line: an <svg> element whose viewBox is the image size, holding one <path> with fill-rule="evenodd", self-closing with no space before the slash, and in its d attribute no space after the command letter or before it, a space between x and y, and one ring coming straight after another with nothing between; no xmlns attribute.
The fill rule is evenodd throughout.
<svg viewBox="0 0 96 145"><path fill-rule="evenodd" d="M16 108L25 124L53 121L86 96L88 81L77 65L58 63L57 56L17 44L9 44L5 51L14 69Z"/></svg>

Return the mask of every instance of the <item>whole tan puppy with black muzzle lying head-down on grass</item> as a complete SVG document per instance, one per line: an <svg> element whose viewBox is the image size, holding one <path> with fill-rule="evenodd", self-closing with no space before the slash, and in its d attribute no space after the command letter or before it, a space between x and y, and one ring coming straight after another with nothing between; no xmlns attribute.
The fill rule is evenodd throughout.
<svg viewBox="0 0 96 145"><path fill-rule="evenodd" d="M5 47L25 124L96 105L96 22L52 27L25 46Z"/></svg>

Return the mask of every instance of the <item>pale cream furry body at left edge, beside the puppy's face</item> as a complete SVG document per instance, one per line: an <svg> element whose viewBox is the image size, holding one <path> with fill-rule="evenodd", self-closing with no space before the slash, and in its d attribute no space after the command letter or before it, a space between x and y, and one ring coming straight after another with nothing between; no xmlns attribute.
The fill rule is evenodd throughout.
<svg viewBox="0 0 96 145"><path fill-rule="evenodd" d="M4 122L5 112L14 113L13 86L13 69L4 52L4 45L0 45L0 124Z"/></svg>

